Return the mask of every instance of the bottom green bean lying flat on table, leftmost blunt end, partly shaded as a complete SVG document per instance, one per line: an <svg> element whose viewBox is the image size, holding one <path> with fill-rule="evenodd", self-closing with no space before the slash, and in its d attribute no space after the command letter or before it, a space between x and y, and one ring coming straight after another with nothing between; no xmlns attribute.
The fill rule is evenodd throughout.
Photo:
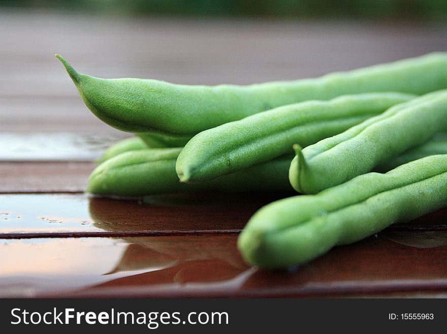
<svg viewBox="0 0 447 334"><path fill-rule="evenodd" d="M203 190L293 191L287 174L291 157L278 158L201 184L186 185L179 182L175 172L180 151L181 147L122 153L93 170L87 192L127 197Z"/></svg>

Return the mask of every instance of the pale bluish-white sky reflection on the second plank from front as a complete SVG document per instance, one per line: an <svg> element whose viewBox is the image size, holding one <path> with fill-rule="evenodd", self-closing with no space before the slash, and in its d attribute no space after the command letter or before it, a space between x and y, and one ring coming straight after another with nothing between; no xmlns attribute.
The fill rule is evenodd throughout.
<svg viewBox="0 0 447 334"><path fill-rule="evenodd" d="M0 195L0 231L92 231L84 195Z"/></svg>

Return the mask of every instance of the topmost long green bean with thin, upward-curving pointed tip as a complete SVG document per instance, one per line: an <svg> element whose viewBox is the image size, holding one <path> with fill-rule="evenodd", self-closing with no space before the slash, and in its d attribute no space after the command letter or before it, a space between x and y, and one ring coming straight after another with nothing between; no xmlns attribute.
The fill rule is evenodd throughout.
<svg viewBox="0 0 447 334"><path fill-rule="evenodd" d="M80 74L56 55L86 106L127 132L193 136L203 130L281 105L369 92L425 94L447 88L447 54L432 53L315 79L248 86L180 85L158 80L101 79Z"/></svg>

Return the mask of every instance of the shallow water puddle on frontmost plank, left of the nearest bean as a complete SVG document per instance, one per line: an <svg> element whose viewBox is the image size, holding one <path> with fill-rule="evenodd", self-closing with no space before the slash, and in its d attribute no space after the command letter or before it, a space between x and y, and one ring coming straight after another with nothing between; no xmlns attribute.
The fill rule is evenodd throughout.
<svg viewBox="0 0 447 334"><path fill-rule="evenodd" d="M97 287L206 287L230 284L246 269L236 236L0 239L0 297Z"/></svg>

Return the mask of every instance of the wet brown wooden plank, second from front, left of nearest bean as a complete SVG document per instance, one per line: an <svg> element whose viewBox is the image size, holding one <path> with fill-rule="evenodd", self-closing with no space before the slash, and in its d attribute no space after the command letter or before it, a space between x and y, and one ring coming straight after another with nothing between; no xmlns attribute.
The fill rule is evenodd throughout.
<svg viewBox="0 0 447 334"><path fill-rule="evenodd" d="M0 238L233 232L288 194L181 194L112 200L68 194L0 195ZM70 234L67 234L70 233Z"/></svg>

